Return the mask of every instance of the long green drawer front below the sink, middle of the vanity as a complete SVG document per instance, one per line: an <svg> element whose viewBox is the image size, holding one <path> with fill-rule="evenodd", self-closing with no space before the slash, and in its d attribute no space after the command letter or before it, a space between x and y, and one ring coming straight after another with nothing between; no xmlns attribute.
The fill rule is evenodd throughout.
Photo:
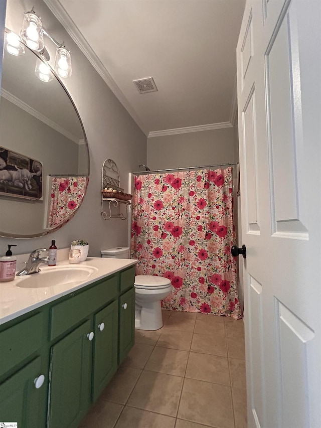
<svg viewBox="0 0 321 428"><path fill-rule="evenodd" d="M50 339L53 340L118 296L118 275L111 276L51 308Z"/></svg>

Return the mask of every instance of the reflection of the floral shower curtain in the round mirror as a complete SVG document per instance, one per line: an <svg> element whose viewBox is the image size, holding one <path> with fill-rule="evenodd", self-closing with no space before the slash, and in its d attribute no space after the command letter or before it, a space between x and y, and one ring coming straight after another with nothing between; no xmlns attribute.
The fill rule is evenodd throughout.
<svg viewBox="0 0 321 428"><path fill-rule="evenodd" d="M86 177L52 177L48 227L70 217L86 189Z"/></svg>

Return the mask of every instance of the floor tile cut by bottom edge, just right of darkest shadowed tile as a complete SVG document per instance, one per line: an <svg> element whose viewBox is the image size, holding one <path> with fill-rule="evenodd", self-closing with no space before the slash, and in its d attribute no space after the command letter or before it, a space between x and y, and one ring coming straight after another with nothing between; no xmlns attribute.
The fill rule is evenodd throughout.
<svg viewBox="0 0 321 428"><path fill-rule="evenodd" d="M126 406L115 428L174 428L175 417Z"/></svg>

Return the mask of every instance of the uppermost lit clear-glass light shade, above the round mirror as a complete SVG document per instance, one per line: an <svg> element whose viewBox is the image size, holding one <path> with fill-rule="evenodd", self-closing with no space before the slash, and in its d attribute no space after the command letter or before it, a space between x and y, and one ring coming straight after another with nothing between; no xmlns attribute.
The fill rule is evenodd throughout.
<svg viewBox="0 0 321 428"><path fill-rule="evenodd" d="M33 51L44 49L44 34L41 19L33 12L27 12L21 29L21 39Z"/></svg>

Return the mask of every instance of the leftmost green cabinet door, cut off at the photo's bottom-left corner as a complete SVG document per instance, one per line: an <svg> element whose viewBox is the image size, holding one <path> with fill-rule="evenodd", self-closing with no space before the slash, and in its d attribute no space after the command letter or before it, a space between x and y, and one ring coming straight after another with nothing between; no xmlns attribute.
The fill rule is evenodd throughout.
<svg viewBox="0 0 321 428"><path fill-rule="evenodd" d="M45 376L43 383L41 375ZM18 422L20 428L45 427L47 385L48 376L41 372L38 357L0 385L0 420Z"/></svg>

